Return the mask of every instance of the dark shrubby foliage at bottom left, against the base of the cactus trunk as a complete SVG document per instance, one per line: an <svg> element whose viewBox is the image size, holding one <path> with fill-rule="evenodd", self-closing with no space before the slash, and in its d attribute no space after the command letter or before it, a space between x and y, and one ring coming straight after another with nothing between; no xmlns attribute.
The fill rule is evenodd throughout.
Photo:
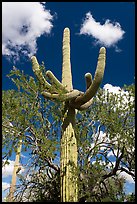
<svg viewBox="0 0 137 204"><path fill-rule="evenodd" d="M48 172L50 172L51 177L48 177ZM15 196L16 201L60 202L59 174L47 168L45 172L37 171L29 176L30 180L20 177L20 184ZM26 186L29 186L29 188L26 188Z"/></svg>

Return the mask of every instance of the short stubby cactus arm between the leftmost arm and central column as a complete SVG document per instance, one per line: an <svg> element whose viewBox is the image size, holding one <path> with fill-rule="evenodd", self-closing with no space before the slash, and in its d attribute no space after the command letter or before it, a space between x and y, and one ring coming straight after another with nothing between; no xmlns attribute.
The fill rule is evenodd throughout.
<svg viewBox="0 0 137 204"><path fill-rule="evenodd" d="M46 76L49 78L51 84L53 83L58 90L63 90L65 93L68 92L50 70L46 71Z"/></svg>

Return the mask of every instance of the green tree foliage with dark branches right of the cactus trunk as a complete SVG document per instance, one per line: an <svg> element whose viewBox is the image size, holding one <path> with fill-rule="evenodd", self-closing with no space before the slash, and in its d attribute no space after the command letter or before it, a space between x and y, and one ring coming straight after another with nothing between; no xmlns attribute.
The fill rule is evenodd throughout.
<svg viewBox="0 0 137 204"><path fill-rule="evenodd" d="M135 171L134 84L123 90L128 90L128 94L121 91L119 95L112 95L100 89L91 109L77 114L79 174L87 177L79 184L82 200L122 201L124 180L117 178L118 172L125 171L135 178L131 173ZM110 152L115 162L109 158ZM102 181L107 186L107 194L100 189ZM117 181L120 189L115 188ZM97 187L97 193L92 190L92 185ZM81 190L81 186L85 189Z"/></svg>

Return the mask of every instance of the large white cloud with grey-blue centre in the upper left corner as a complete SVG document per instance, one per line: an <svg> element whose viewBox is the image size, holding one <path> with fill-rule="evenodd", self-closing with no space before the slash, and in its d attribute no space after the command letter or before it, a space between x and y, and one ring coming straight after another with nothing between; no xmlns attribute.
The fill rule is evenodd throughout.
<svg viewBox="0 0 137 204"><path fill-rule="evenodd" d="M2 2L2 54L19 59L37 51L37 38L51 32L53 16L45 2Z"/></svg>

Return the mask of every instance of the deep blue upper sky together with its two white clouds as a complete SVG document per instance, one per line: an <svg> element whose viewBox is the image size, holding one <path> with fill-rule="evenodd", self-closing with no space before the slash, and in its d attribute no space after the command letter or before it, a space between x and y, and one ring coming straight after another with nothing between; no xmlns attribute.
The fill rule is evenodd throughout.
<svg viewBox="0 0 137 204"><path fill-rule="evenodd" d="M25 9L22 9L26 6L22 2L2 3L3 90L15 89L6 77L13 65L34 76L30 62L32 55L36 55L40 64L44 61L46 69L61 80L65 27L70 28L74 88L85 90L84 75L91 72L94 76L101 46L105 46L107 52L101 87L134 83L134 2L33 2L32 6L31 2L23 3L27 5ZM134 185L128 189L132 191Z"/></svg>

